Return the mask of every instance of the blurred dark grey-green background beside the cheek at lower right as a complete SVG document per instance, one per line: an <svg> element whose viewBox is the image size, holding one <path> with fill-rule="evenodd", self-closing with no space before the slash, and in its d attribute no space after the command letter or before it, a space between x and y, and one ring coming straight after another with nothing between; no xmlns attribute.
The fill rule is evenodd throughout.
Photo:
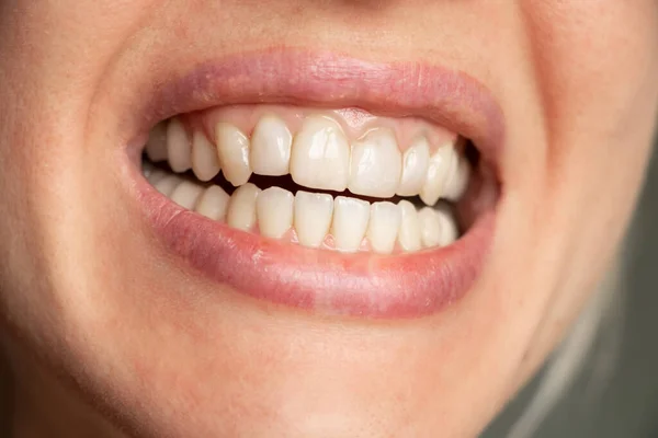
<svg viewBox="0 0 658 438"><path fill-rule="evenodd" d="M537 428L514 430L542 379L549 372L564 373L559 366L552 371L547 365L483 438L658 437L658 139L625 255L621 293L612 298L574 384Z"/></svg>

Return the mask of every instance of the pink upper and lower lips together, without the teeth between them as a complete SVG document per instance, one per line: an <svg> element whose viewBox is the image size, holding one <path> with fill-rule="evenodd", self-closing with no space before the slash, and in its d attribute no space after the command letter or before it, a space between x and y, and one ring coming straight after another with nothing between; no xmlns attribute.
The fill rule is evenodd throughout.
<svg viewBox="0 0 658 438"><path fill-rule="evenodd" d="M500 107L480 82L444 67L276 49L208 61L154 90L141 113L147 122L140 138L161 119L225 104L358 106L423 117L460 132L499 173ZM129 150L128 157L139 155L139 148ZM126 166L132 191L156 239L178 263L237 292L319 314L408 319L436 313L472 288L495 231L498 203L479 212L454 244L436 250L382 256L283 244L180 208L146 182L134 161Z"/></svg>

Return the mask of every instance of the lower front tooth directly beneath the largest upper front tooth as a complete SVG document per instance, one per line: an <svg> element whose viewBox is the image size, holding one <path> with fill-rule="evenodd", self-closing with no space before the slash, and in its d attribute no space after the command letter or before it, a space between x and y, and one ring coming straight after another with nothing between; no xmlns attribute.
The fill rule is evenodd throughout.
<svg viewBox="0 0 658 438"><path fill-rule="evenodd" d="M325 193L299 191L295 195L295 230L304 246L318 247L331 226L333 198Z"/></svg>

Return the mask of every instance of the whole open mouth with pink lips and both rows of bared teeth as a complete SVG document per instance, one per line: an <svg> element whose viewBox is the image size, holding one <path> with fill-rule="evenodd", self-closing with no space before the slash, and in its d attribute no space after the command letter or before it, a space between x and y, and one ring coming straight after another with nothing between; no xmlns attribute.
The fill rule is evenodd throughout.
<svg viewBox="0 0 658 438"><path fill-rule="evenodd" d="M484 268L502 119L463 72L258 53L157 87L127 168L162 251L223 291L418 318Z"/></svg>

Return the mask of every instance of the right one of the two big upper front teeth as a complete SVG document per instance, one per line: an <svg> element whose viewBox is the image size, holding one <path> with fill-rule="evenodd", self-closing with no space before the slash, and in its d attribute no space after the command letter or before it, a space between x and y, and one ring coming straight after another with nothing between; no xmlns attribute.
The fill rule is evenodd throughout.
<svg viewBox="0 0 658 438"><path fill-rule="evenodd" d="M352 145L348 188L358 195L388 198L400 184L402 157L395 134L377 128Z"/></svg>

